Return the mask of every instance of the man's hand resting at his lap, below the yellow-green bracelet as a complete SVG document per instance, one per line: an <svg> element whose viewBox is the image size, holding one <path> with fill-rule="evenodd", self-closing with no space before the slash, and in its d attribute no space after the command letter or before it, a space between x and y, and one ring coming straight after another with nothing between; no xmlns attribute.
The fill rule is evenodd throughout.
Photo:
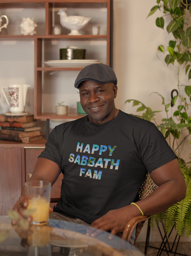
<svg viewBox="0 0 191 256"><path fill-rule="evenodd" d="M136 208L133 205L128 205L117 210L111 210L101 218L93 221L91 227L111 231L112 235L116 235L116 233L124 231L126 224L132 217L140 215L140 211ZM99 231L93 233L90 230L87 231L87 235L91 237L95 237L99 233ZM112 235L109 238L112 238Z"/></svg>

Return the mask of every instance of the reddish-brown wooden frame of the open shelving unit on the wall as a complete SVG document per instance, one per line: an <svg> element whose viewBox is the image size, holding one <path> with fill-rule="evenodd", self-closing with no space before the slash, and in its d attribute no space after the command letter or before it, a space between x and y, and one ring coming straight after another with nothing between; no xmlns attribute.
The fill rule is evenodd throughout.
<svg viewBox="0 0 191 256"><path fill-rule="evenodd" d="M111 14L113 0L0 0L1 8L43 8L45 11L44 34L24 36L24 35L0 35L0 40L34 40L34 118L35 119L77 119L82 115L68 114L57 116L56 113L43 113L43 72L51 71L80 71L82 68L50 68L43 65L43 41L45 40L104 40L106 41L106 64L111 65ZM52 35L52 22L54 8L107 8L107 32L106 35ZM94 24L95 25L95 24ZM9 26L9 25L8 25Z"/></svg>

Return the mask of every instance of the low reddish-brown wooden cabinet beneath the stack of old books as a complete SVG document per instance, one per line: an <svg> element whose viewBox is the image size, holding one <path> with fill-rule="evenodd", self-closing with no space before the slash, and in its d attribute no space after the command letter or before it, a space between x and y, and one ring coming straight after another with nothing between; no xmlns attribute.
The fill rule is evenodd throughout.
<svg viewBox="0 0 191 256"><path fill-rule="evenodd" d="M6 215L18 201L45 143L43 140L30 144L0 140L0 215ZM60 197L62 179L61 173L51 188L51 197Z"/></svg>

